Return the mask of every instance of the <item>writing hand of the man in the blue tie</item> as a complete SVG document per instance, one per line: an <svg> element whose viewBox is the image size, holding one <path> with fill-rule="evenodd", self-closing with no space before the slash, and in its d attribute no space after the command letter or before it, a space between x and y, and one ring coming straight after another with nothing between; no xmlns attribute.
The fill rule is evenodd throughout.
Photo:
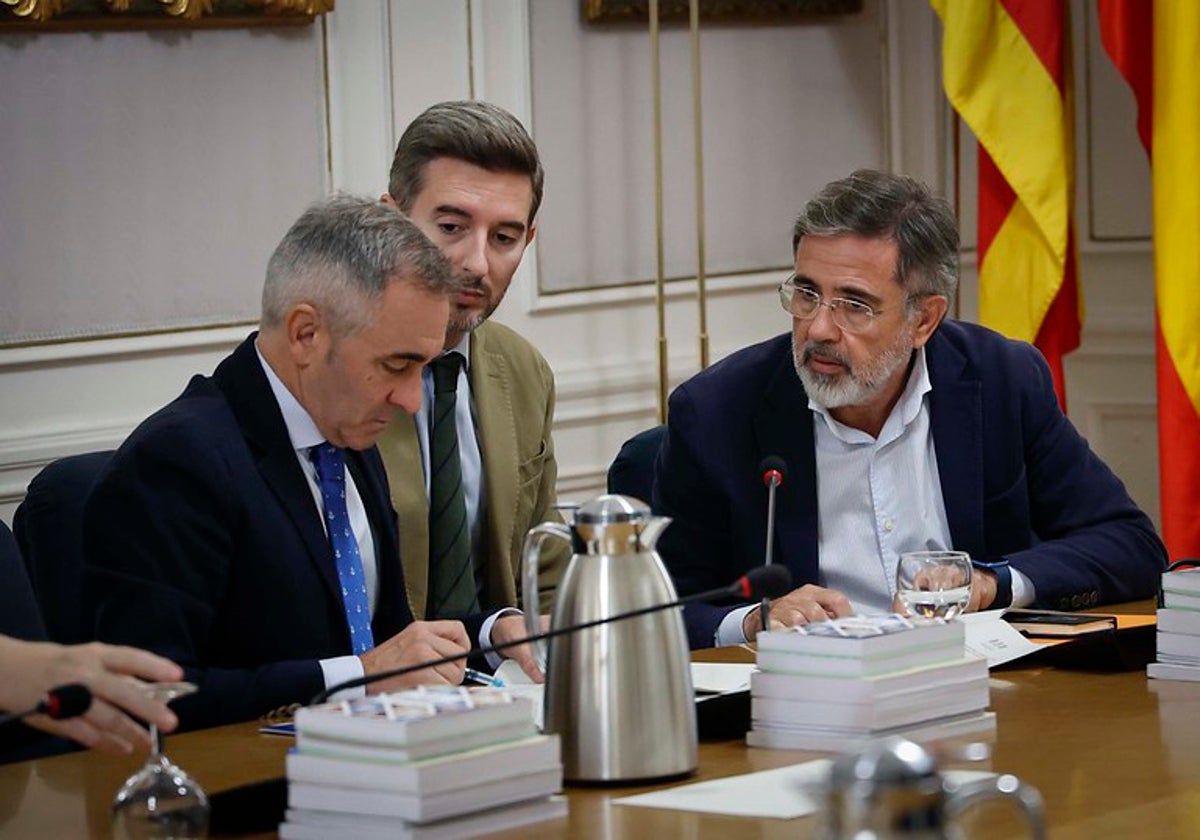
<svg viewBox="0 0 1200 840"><path fill-rule="evenodd" d="M467 629L462 622L413 622L388 641L360 655L359 659L362 660L362 673L370 676L468 650L470 650L470 640L467 638ZM466 660L446 662L403 677L382 679L367 686L367 690L371 692L396 691L422 683L458 685L466 667Z"/></svg>

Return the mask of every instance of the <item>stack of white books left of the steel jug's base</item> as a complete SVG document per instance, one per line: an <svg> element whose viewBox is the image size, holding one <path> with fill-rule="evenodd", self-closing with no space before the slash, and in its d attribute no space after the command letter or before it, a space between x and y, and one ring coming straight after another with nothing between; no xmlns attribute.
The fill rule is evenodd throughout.
<svg viewBox="0 0 1200 840"><path fill-rule="evenodd" d="M325 703L295 728L284 839L474 836L566 814L558 737L503 689Z"/></svg>

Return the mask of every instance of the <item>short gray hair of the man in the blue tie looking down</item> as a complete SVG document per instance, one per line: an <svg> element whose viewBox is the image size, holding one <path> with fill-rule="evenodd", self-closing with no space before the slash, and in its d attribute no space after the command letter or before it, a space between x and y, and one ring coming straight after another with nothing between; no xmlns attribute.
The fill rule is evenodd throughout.
<svg viewBox="0 0 1200 840"><path fill-rule="evenodd" d="M454 294L462 282L403 212L377 199L338 194L313 204L275 248L263 284L262 328L311 304L336 337L366 326L389 283Z"/></svg>

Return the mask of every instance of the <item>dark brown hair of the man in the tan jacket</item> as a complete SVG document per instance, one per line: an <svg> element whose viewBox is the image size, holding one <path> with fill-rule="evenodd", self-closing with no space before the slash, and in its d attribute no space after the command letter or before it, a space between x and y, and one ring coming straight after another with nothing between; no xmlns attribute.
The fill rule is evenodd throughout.
<svg viewBox="0 0 1200 840"><path fill-rule="evenodd" d="M425 186L425 167L438 157L452 157L492 172L529 176L532 224L541 205L546 179L529 132L509 112L488 102L463 100L427 108L404 130L391 160L388 192L401 210L409 210Z"/></svg>

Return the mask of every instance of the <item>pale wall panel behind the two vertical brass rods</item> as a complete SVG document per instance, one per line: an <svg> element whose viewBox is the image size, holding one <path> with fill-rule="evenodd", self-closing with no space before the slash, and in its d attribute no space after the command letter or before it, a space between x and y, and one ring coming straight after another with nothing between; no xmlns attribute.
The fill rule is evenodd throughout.
<svg viewBox="0 0 1200 840"><path fill-rule="evenodd" d="M701 31L707 269L791 262L791 221L832 175L884 160L877 5L811 23ZM533 116L545 158L544 292L655 275L653 90L643 28L530 1ZM690 35L664 28L665 264L696 271Z"/></svg>

